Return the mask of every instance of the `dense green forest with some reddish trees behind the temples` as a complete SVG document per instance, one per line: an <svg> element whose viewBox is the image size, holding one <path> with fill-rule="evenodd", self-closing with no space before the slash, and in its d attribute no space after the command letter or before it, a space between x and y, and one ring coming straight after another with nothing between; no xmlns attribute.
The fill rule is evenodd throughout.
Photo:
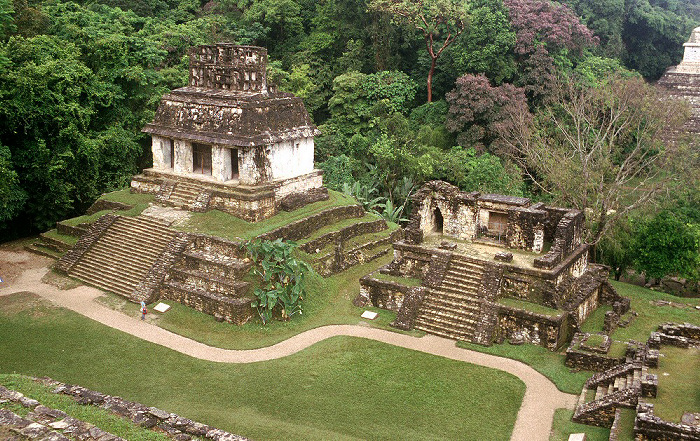
<svg viewBox="0 0 700 441"><path fill-rule="evenodd" d="M698 24L696 0L0 0L0 240L127 186L188 48L228 41L268 49L368 209L401 221L431 179L525 195L586 210L618 271L697 277L697 149L649 83Z"/></svg>

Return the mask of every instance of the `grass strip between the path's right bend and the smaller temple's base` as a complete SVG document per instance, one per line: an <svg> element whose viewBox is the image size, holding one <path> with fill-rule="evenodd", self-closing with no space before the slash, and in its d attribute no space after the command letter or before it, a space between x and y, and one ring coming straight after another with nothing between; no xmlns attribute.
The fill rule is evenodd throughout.
<svg viewBox="0 0 700 441"><path fill-rule="evenodd" d="M457 346L522 361L549 378L557 386L557 389L570 394L580 394L583 383L593 375L593 372L589 371L572 372L571 369L564 366L563 353L552 352L543 346L529 344L513 346L508 343L480 346L462 341L458 342Z"/></svg>

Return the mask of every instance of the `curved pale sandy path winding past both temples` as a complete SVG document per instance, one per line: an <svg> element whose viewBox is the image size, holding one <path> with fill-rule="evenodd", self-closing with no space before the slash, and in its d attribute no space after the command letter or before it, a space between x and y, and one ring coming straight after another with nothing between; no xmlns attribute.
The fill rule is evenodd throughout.
<svg viewBox="0 0 700 441"><path fill-rule="evenodd" d="M356 325L330 325L302 332L273 346L252 350L229 350L207 346L183 336L166 331L155 325L140 321L114 311L93 300L101 291L80 286L71 290L60 290L45 284L41 278L48 268L32 268L20 274L10 286L0 289L0 295L28 291L38 294L53 303L73 310L114 329L129 333L143 340L165 346L180 353L203 360L222 363L253 363L285 357L301 351L314 343L335 336L351 336L376 340L407 349L425 352L453 360L465 361L511 373L526 385L523 404L513 429L513 441L546 441L549 439L554 411L558 408L573 409L577 397L559 391L544 375L530 366L509 358L497 357L481 352L456 347L453 340L426 335L412 337L382 329Z"/></svg>

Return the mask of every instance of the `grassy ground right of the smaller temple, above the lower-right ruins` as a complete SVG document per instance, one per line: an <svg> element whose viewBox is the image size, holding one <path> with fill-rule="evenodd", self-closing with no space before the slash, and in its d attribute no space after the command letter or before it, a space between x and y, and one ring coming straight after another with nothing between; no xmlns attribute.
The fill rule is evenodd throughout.
<svg viewBox="0 0 700 441"><path fill-rule="evenodd" d="M664 322L700 325L700 311L695 308L676 308L673 306L655 306L651 304L654 300L667 300L696 306L700 305L700 299L676 297L627 283L613 281L612 284L620 295L630 298L632 310L639 314L639 316L632 320L628 327L617 328L613 331L611 337L614 340L637 340L645 342L649 338L649 333L656 331L656 328ZM596 310L583 324L582 330L584 332L601 331L603 328L605 311L610 309L610 307L603 306Z"/></svg>

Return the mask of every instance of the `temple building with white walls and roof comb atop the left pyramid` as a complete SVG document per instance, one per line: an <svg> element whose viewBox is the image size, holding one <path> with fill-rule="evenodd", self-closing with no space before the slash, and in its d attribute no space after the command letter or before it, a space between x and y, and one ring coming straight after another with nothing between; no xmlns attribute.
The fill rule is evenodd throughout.
<svg viewBox="0 0 700 441"><path fill-rule="evenodd" d="M268 86L267 50L220 43L192 48L189 58L189 85L163 96L143 129L153 168L132 190L249 221L274 215L289 195L323 193L318 130L300 98Z"/></svg>

